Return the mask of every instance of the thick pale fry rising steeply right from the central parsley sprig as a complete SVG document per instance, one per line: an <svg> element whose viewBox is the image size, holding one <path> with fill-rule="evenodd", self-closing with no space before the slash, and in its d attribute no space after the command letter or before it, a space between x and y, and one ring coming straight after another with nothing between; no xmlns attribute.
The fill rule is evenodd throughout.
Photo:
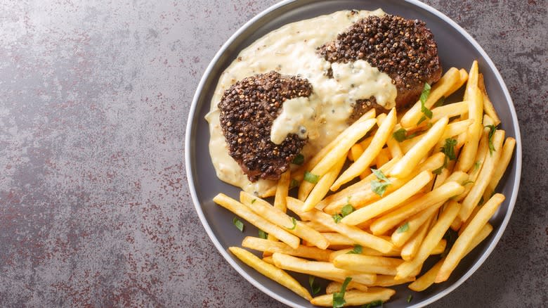
<svg viewBox="0 0 548 308"><path fill-rule="evenodd" d="M425 134L424 138L421 139L415 146L413 146L403 158L401 158L396 165L392 168L390 174L392 177L406 177L409 175L417 165L419 165L420 160L426 157L429 150L438 142L445 127L448 124L448 118L443 117L441 120L433 124L431 129Z"/></svg>

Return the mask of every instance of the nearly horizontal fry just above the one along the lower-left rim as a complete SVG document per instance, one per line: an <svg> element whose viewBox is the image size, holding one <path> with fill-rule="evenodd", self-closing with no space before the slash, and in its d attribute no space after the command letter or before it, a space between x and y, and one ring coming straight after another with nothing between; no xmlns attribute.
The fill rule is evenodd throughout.
<svg viewBox="0 0 548 308"><path fill-rule="evenodd" d="M330 260L331 252L333 252L333 250L308 247L304 245L299 245L298 248L294 249L285 243L275 242L273 240L263 240L262 238L254 238L252 236L246 236L244 238L242 241L242 247L263 252L281 252L285 255L316 259L318 261L325 262Z"/></svg>

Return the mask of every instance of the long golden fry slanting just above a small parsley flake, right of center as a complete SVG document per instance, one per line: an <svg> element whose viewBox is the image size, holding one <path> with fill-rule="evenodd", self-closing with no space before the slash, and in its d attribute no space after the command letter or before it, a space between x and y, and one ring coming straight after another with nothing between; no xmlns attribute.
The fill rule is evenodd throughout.
<svg viewBox="0 0 548 308"><path fill-rule="evenodd" d="M452 181L445 183L442 186L434 189L433 191L426 193L426 195L423 195L422 198L419 198L412 203L407 203L407 205L393 210L392 212L375 220L371 224L370 229L373 234L383 234L384 232L397 226L400 222L405 221L405 219L411 217L414 214L417 214L427 207L440 207L441 205L439 203L443 204L449 198L455 195L459 195L463 191L464 187L457 182Z"/></svg>

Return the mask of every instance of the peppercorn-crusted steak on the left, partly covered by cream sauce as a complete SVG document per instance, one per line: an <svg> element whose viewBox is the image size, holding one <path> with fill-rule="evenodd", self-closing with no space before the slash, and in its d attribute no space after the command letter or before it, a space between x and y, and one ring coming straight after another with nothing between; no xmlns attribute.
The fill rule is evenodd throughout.
<svg viewBox="0 0 548 308"><path fill-rule="evenodd" d="M218 103L221 128L230 156L249 181L280 179L301 152L306 140L289 134L278 145L270 141L270 129L286 100L311 92L308 80L275 71L246 77L225 91Z"/></svg>

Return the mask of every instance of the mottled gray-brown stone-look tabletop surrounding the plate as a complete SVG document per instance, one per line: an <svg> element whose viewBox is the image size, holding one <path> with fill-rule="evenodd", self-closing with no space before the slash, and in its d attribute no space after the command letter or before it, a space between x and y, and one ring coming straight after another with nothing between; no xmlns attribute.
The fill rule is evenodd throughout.
<svg viewBox="0 0 548 308"><path fill-rule="evenodd" d="M183 139L214 53L276 1L0 2L0 307L282 307L195 214ZM523 177L495 252L433 307L546 307L546 0L426 1L492 57Z"/></svg>

